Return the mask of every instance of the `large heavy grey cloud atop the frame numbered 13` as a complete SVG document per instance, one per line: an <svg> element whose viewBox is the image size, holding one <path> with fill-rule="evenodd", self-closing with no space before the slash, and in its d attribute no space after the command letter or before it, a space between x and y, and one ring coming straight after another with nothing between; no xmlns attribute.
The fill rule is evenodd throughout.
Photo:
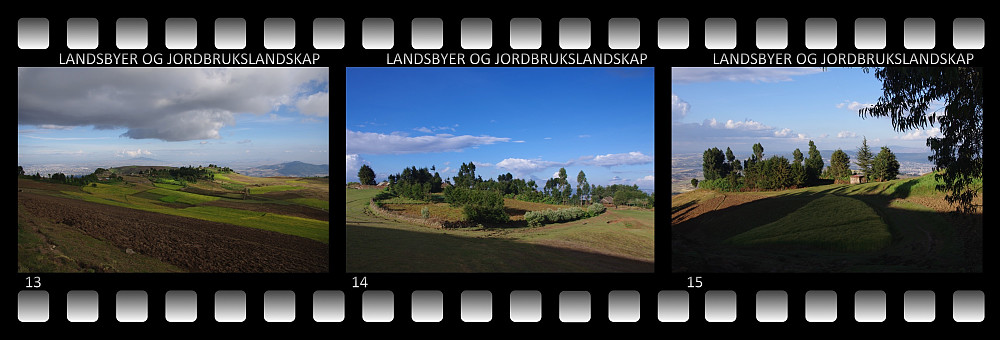
<svg viewBox="0 0 1000 340"><path fill-rule="evenodd" d="M126 129L122 137L218 139L236 116L298 106L328 114L324 68L19 68L18 125ZM327 99L328 102L328 99Z"/></svg>

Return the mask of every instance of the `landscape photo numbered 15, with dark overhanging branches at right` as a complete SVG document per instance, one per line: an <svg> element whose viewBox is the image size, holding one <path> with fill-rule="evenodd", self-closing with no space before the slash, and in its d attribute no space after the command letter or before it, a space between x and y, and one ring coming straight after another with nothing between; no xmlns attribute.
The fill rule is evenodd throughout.
<svg viewBox="0 0 1000 340"><path fill-rule="evenodd" d="M671 272L982 273L981 68L673 68Z"/></svg>

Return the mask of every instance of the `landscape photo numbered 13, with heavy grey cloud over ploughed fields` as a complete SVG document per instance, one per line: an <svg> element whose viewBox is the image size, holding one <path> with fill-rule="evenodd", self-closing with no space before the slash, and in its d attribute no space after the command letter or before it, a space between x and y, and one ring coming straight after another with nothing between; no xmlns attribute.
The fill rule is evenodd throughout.
<svg viewBox="0 0 1000 340"><path fill-rule="evenodd" d="M23 273L328 273L326 68L18 68Z"/></svg>

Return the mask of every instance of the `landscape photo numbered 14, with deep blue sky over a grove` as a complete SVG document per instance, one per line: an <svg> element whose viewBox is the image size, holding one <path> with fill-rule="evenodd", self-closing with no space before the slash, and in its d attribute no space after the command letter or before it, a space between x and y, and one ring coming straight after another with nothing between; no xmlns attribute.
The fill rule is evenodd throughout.
<svg viewBox="0 0 1000 340"><path fill-rule="evenodd" d="M652 68L347 68L346 269L652 273Z"/></svg>

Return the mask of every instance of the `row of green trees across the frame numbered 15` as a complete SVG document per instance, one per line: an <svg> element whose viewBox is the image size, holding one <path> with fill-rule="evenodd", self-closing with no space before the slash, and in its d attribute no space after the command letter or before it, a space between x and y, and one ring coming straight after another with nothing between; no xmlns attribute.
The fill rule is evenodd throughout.
<svg viewBox="0 0 1000 340"><path fill-rule="evenodd" d="M846 182L853 174L851 158L841 149L833 152L830 166L825 169L823 156L813 141L809 141L808 155L809 158L805 158L802 151L795 149L791 162L784 156L765 159L764 146L756 143L753 154L740 162L728 147L725 154L719 148L711 148L702 155L705 180L692 180L691 184L722 191L781 190L813 185L820 179ZM867 138L858 149L856 164L869 181L893 180L899 174L896 155L883 146L877 155L871 156Z"/></svg>

